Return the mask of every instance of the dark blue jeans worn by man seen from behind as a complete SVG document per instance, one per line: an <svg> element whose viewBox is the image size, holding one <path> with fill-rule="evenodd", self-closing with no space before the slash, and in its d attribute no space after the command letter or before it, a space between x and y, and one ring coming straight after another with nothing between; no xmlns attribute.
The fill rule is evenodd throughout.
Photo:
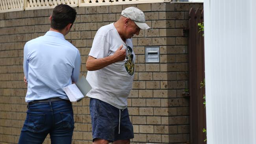
<svg viewBox="0 0 256 144"><path fill-rule="evenodd" d="M28 105L19 144L42 144L50 133L51 144L71 144L74 130L72 104L67 100Z"/></svg>

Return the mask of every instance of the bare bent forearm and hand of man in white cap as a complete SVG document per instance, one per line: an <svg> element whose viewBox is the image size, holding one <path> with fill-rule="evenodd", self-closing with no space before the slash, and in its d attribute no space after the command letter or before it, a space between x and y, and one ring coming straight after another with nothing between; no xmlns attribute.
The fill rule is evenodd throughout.
<svg viewBox="0 0 256 144"><path fill-rule="evenodd" d="M123 61L125 57L126 57L126 50L125 49L122 50L122 45L121 45L113 55L110 55L108 57L96 59L95 57L89 56L86 62L86 68L89 71L100 70L112 63Z"/></svg>

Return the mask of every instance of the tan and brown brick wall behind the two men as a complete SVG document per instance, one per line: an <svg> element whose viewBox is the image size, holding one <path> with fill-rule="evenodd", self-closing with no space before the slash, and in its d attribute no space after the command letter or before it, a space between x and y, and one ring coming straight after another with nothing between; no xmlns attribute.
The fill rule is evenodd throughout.
<svg viewBox="0 0 256 144"><path fill-rule="evenodd" d="M135 78L128 98L134 125L133 144L186 143L189 141L189 101L182 96L187 88L187 33L193 3L77 7L77 18L65 36L80 50L82 72L93 37L101 26L115 22L122 9L135 6L145 12L150 30L133 38ZM0 143L17 143L26 117L23 83L23 46L44 35L50 28L52 9L0 13ZM160 63L145 63L145 46L160 46ZM91 144L89 98L73 103L74 144ZM45 144L50 143L49 137Z"/></svg>

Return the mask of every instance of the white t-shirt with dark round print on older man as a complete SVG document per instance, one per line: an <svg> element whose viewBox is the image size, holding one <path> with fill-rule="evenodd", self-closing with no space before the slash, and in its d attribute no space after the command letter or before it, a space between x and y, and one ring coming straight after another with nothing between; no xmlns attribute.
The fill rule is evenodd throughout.
<svg viewBox="0 0 256 144"><path fill-rule="evenodd" d="M102 100L119 109L125 109L134 79L135 54L132 50L132 39L126 39L124 43L113 23L102 26L94 37L89 55L97 59L108 57L113 55L121 44L126 49L124 61L87 72L86 79L92 87L87 96ZM128 46L130 48L127 48Z"/></svg>

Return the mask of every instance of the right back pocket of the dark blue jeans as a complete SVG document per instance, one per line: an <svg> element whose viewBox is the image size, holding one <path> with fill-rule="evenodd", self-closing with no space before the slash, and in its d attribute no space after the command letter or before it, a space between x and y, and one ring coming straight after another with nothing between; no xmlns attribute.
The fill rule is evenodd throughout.
<svg viewBox="0 0 256 144"><path fill-rule="evenodd" d="M64 129L74 129L74 117L73 112L60 112L62 119L62 128Z"/></svg>

